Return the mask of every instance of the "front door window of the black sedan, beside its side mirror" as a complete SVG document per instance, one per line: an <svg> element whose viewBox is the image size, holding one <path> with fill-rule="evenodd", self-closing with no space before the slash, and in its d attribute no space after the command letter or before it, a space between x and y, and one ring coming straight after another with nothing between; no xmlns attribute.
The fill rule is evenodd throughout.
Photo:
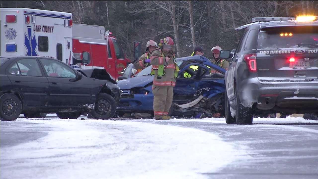
<svg viewBox="0 0 318 179"><path fill-rule="evenodd" d="M47 76L60 78L76 78L75 72L62 62L40 59Z"/></svg>

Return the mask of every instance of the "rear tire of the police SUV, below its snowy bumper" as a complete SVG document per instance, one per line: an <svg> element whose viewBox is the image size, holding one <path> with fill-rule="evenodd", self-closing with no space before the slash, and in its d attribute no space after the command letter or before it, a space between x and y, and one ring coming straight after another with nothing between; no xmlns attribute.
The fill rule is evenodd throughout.
<svg viewBox="0 0 318 179"><path fill-rule="evenodd" d="M237 92L235 92L235 97L236 97L236 110L235 110L236 124L252 124L253 114L251 112L251 109L243 106Z"/></svg>

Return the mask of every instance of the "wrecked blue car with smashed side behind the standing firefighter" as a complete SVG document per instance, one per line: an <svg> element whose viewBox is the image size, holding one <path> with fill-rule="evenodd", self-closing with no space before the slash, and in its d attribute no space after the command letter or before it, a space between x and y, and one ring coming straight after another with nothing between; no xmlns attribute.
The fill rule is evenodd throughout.
<svg viewBox="0 0 318 179"><path fill-rule="evenodd" d="M173 102L169 115L193 117L200 113L219 113L224 116L225 69L201 55L177 58L179 74L173 89ZM191 69L195 66L195 70ZM191 68L190 68L191 67ZM217 73L211 73L211 69ZM118 86L123 91L117 114L149 113L153 115L153 76L151 66L131 77L133 64L129 64L124 75L119 78ZM184 73L191 77L186 78ZM126 79L125 79L126 78Z"/></svg>

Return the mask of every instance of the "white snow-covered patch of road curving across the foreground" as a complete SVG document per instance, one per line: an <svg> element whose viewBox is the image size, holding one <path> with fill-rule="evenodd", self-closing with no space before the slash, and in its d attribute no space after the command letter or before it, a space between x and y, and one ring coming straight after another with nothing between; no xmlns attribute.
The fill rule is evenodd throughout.
<svg viewBox="0 0 318 179"><path fill-rule="evenodd" d="M1 122L9 128L47 135L2 145L1 178L206 178L248 157L211 132L169 125L52 116Z"/></svg>

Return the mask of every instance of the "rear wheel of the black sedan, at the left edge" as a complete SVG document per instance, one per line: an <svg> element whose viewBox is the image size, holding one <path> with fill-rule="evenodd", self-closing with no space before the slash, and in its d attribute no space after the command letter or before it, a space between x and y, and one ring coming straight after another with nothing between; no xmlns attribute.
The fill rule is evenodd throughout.
<svg viewBox="0 0 318 179"><path fill-rule="evenodd" d="M0 97L0 120L14 121L22 111L21 100L12 93L3 94Z"/></svg>

